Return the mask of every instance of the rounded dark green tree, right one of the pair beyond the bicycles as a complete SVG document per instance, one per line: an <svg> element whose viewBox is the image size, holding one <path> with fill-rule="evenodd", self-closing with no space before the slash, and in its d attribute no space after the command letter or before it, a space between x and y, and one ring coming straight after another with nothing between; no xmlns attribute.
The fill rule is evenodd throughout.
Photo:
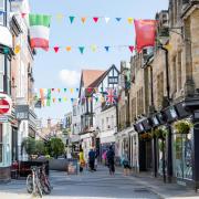
<svg viewBox="0 0 199 199"><path fill-rule="evenodd" d="M61 156L64 153L64 144L61 138L51 138L49 142L49 153L52 157L57 158L57 156Z"/></svg>

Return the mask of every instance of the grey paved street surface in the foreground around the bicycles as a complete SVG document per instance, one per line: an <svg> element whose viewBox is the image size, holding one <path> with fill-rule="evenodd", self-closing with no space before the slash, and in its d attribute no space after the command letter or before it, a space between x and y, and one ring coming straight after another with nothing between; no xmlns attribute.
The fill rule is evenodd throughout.
<svg viewBox="0 0 199 199"><path fill-rule="evenodd" d="M108 176L107 168L101 167L96 172L84 171L82 175L67 176L66 172L52 171L51 181L53 190L49 199L128 199L128 198L165 198L163 190L156 190L153 182L147 186L147 180L135 177L124 177L117 171L114 177ZM180 190L184 189L180 187ZM166 192L167 190L164 189ZM156 192L157 191L157 192ZM172 191L172 190L171 190ZM175 192L172 192L175 193ZM182 192L177 192L179 196ZM174 195L175 196L175 195ZM184 193L184 196L186 196ZM190 192L189 192L190 196ZM193 192L191 191L191 196ZM12 180L0 185L0 199L29 199L25 180ZM171 197L168 197L171 198ZM174 198L174 197L172 197ZM177 198L177 197L176 197ZM197 197L199 198L199 196Z"/></svg>

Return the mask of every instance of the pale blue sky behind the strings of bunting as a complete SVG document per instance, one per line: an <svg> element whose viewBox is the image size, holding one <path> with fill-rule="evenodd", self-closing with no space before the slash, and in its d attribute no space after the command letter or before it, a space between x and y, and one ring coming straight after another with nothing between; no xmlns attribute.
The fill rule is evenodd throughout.
<svg viewBox="0 0 199 199"><path fill-rule="evenodd" d="M168 8L168 0L30 0L30 4L33 13L52 14L51 46L87 46L83 55L77 49L72 49L72 52L62 49L59 53L54 53L53 50L49 52L38 50L33 72L35 88L39 90L41 87L78 87L77 76L82 69L107 69L112 64L119 67L121 61L129 62L128 49L111 49L108 53L103 49L97 49L94 53L88 46L92 44L97 46L134 44L134 25L128 24L127 18L154 19L156 12ZM70 24L66 17L59 22L55 18L57 13L78 18L73 24ZM82 24L80 17L109 17L111 20L107 24L104 20L95 24L90 18L85 24ZM117 23L114 19L116 17L123 20ZM60 75L61 71L62 74L72 74L70 75L72 78L63 80L63 75L62 77ZM69 92L55 95L56 97L75 97L75 93L71 95ZM56 122L56 118L63 117L69 111L71 111L70 101L36 109L36 113L39 118L51 117Z"/></svg>

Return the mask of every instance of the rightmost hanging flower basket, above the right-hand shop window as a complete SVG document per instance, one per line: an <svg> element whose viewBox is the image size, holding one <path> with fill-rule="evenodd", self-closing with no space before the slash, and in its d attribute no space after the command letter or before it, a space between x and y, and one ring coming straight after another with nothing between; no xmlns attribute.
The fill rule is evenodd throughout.
<svg viewBox="0 0 199 199"><path fill-rule="evenodd" d="M184 119L184 121L176 122L174 127L178 134L189 134L192 127L192 124Z"/></svg>

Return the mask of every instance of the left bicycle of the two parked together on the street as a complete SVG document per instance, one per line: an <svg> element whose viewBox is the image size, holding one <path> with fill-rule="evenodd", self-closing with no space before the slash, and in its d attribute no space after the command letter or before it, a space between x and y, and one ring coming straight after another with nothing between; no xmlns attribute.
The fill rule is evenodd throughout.
<svg viewBox="0 0 199 199"><path fill-rule="evenodd" d="M31 167L32 174L27 177L27 191L36 196L39 193L42 198L42 186L39 178L39 167Z"/></svg>

